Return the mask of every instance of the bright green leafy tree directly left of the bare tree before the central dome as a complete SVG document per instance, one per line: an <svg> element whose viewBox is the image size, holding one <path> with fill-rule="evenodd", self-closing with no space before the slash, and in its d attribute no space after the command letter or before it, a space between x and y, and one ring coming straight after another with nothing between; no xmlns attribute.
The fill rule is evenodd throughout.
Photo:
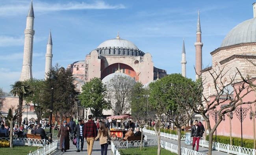
<svg viewBox="0 0 256 155"><path fill-rule="evenodd" d="M82 86L79 95L81 105L90 108L94 116L99 117L103 109L110 109L110 103L104 99L106 96L106 85L100 78L93 78Z"/></svg>

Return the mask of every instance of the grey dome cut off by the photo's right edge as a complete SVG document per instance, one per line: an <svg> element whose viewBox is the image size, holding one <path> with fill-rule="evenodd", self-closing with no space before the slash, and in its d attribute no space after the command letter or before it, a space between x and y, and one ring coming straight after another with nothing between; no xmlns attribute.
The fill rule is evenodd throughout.
<svg viewBox="0 0 256 155"><path fill-rule="evenodd" d="M256 42L256 18L245 20L235 26L226 35L221 47L247 42Z"/></svg>

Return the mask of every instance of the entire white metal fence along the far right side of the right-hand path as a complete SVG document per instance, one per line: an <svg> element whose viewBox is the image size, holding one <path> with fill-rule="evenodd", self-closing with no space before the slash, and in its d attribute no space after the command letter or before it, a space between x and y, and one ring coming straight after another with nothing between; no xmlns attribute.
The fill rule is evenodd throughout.
<svg viewBox="0 0 256 155"><path fill-rule="evenodd" d="M145 133L150 133L152 135L156 135L155 131L148 130L146 128L143 128L143 132ZM168 135L167 135L168 134ZM160 133L161 137L165 138L170 138L174 140L178 140L178 135L172 135L169 133ZM182 140L186 139L186 135L182 135ZM209 148L209 141L204 140L201 138L199 141L199 146ZM226 153L232 153L235 155L256 155L256 149L249 149L249 148L243 148L241 146L232 146L229 144L222 144L222 143L213 143L213 149L218 150L218 151L223 151Z"/></svg>

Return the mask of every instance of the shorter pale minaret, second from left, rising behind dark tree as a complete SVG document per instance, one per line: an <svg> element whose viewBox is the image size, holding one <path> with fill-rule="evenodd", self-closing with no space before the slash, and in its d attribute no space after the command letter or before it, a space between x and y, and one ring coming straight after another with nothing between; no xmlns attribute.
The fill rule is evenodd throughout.
<svg viewBox="0 0 256 155"><path fill-rule="evenodd" d="M52 68L52 34L50 31L48 42L46 45L46 54L45 54L45 80L49 78L47 73L50 72Z"/></svg>

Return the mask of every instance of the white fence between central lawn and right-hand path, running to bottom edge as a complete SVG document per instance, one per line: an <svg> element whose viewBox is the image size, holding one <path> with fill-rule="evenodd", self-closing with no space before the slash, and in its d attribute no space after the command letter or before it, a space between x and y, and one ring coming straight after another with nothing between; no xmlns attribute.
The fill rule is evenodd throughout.
<svg viewBox="0 0 256 155"><path fill-rule="evenodd" d="M167 149L173 153L178 153L178 146L161 140L161 148ZM182 155L204 155L203 153L193 151L192 149L181 148Z"/></svg>

